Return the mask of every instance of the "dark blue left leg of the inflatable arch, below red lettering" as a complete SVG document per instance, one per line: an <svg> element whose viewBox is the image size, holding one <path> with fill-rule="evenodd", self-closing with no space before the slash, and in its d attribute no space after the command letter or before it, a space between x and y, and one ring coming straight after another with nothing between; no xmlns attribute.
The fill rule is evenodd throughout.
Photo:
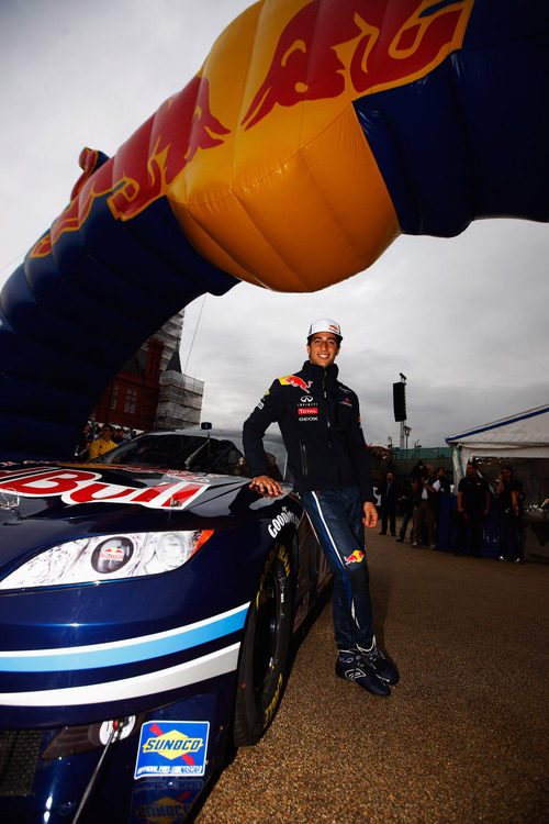
<svg viewBox="0 0 549 824"><path fill-rule="evenodd" d="M238 281L188 243L166 200L115 224L104 199L53 253L30 257L0 302L3 460L71 457L109 381L179 308Z"/></svg>

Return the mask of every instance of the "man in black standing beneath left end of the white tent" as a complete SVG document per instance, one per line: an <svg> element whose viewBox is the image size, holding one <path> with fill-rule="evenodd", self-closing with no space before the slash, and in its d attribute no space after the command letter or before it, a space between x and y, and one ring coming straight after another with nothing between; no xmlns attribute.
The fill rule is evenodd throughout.
<svg viewBox="0 0 549 824"><path fill-rule="evenodd" d="M479 558L482 544L482 524L490 512L490 488L477 471L473 463L466 467L464 478L458 483L458 534L456 555L464 555L469 536L469 554Z"/></svg>

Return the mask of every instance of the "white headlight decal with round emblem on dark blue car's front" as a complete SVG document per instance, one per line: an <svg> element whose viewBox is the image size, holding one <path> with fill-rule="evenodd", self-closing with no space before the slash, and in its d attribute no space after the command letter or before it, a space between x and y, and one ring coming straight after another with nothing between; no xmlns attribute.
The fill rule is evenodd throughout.
<svg viewBox="0 0 549 824"><path fill-rule="evenodd" d="M58 544L35 555L0 581L0 589L100 583L178 569L213 530L97 535Z"/></svg>

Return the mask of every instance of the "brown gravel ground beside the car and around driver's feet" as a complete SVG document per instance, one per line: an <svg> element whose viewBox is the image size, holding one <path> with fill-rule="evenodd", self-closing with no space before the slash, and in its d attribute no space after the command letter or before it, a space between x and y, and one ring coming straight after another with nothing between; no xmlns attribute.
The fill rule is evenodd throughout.
<svg viewBox="0 0 549 824"><path fill-rule="evenodd" d="M197 824L549 821L549 565L498 564L369 533L378 643L401 682L334 675L329 604L262 741Z"/></svg>

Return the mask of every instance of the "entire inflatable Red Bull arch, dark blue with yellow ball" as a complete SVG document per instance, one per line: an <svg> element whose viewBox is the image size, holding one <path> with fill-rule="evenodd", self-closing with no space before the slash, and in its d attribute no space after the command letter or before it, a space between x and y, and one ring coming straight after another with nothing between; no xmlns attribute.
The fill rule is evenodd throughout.
<svg viewBox="0 0 549 824"><path fill-rule="evenodd" d="M5 283L0 457L70 456L125 360L204 292L322 289L401 233L547 221L548 63L547 0L251 5L113 157L82 151Z"/></svg>

